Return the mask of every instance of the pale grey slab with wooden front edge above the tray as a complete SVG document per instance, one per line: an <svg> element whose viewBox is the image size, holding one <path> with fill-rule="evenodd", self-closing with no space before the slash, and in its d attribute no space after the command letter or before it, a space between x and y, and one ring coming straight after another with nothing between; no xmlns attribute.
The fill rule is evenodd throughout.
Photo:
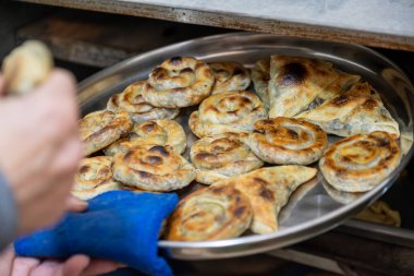
<svg viewBox="0 0 414 276"><path fill-rule="evenodd" d="M278 35L414 50L411 0L21 0Z"/></svg>

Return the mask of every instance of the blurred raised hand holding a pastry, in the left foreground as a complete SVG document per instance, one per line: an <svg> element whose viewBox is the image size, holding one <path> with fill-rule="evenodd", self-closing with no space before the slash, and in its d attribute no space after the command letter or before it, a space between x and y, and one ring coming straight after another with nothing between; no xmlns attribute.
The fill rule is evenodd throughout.
<svg viewBox="0 0 414 276"><path fill-rule="evenodd" d="M75 93L74 79L54 70L32 93L0 98L0 171L15 197L19 235L49 226L66 207L82 157Z"/></svg>

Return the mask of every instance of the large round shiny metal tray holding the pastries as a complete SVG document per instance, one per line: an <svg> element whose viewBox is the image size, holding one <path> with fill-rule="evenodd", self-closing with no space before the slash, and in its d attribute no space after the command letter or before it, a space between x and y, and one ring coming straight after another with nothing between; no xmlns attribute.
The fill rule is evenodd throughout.
<svg viewBox="0 0 414 276"><path fill-rule="evenodd" d="M280 214L280 230L269 235L245 235L240 238L178 242L160 240L159 247L175 259L205 260L241 256L290 245L334 228L383 194L413 155L414 87L391 61L368 48L281 37L268 34L232 33L174 44L142 53L108 68L80 84L83 113L105 108L110 95L127 84L147 79L163 60L174 56L193 56L204 61L233 60L252 68L254 62L272 53L304 56L330 61L342 71L356 73L381 94L387 108L400 123L403 158L401 165L376 189L350 196L324 188L319 173L296 191ZM181 117L185 121L188 112ZM185 122L186 123L186 122ZM331 194L331 193L330 193Z"/></svg>

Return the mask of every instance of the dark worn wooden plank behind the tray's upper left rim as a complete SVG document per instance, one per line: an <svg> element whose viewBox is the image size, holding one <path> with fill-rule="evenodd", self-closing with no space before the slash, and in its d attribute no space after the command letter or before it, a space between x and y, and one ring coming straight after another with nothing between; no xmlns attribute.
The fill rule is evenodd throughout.
<svg viewBox="0 0 414 276"><path fill-rule="evenodd" d="M75 20L74 20L75 19ZM41 39L58 59L109 67L139 52L223 29L102 13L62 11L17 31L17 38Z"/></svg>

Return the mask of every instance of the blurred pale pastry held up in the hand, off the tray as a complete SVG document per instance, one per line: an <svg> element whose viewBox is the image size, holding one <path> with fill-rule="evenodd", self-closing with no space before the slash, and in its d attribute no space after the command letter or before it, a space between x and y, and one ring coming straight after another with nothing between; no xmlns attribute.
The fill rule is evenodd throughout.
<svg viewBox="0 0 414 276"><path fill-rule="evenodd" d="M46 81L52 69L53 58L48 47L41 41L27 40L3 60L3 91L25 94Z"/></svg>

